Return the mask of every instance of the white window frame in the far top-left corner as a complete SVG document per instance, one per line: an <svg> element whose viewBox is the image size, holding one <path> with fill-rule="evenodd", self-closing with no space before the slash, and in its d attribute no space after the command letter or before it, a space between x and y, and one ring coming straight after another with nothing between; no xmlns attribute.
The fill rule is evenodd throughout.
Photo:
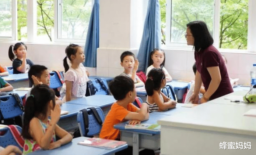
<svg viewBox="0 0 256 155"><path fill-rule="evenodd" d="M17 36L17 0L11 0L11 37L0 37L0 40L15 40Z"/></svg>

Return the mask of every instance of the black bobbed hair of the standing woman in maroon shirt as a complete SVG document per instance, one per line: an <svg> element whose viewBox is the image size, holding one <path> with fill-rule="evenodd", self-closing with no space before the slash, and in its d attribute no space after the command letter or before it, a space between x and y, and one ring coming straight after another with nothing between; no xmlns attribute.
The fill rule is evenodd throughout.
<svg viewBox="0 0 256 155"><path fill-rule="evenodd" d="M213 44L213 37L211 36L207 25L204 21L193 21L187 24L194 37L194 50L199 52Z"/></svg>

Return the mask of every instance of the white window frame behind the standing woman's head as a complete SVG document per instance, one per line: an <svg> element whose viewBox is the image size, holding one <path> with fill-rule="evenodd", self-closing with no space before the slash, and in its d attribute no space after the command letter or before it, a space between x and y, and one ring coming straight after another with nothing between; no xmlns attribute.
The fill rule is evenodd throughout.
<svg viewBox="0 0 256 155"><path fill-rule="evenodd" d="M256 52L255 38L256 38L256 16L255 9L256 1L248 0L248 37L247 37L247 50L238 49L224 49L220 48L220 51L239 51L239 52ZM214 1L214 27L213 27L213 39L214 46L219 47L219 34L220 34L220 0ZM166 0L166 48L175 48L180 50L191 50L191 47L187 46L186 43L171 43L171 0Z"/></svg>

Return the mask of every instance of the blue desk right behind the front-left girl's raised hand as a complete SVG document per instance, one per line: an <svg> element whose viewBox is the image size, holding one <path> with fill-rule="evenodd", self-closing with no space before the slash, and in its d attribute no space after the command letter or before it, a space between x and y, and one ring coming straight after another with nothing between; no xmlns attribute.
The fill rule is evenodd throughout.
<svg viewBox="0 0 256 155"><path fill-rule="evenodd" d="M73 131L75 129L78 129L78 123L77 123L77 113L78 111L90 108L92 106L88 105L79 105L79 104L62 104L60 107L64 111L69 111L66 115L61 115L60 120L57 123L60 127L62 127L66 131Z"/></svg>

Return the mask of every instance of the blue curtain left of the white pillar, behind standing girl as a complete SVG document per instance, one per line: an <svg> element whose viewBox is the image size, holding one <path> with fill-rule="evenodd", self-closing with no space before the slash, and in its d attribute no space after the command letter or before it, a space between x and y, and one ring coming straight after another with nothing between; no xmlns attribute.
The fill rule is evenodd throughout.
<svg viewBox="0 0 256 155"><path fill-rule="evenodd" d="M94 0L90 23L84 47L86 67L97 66L97 48L99 47L99 0Z"/></svg>

